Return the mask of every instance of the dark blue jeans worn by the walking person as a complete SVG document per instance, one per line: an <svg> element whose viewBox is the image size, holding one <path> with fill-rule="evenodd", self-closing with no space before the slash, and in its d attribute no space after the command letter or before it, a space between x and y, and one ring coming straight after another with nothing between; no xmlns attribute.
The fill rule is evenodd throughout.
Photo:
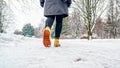
<svg viewBox="0 0 120 68"><path fill-rule="evenodd" d="M63 21L62 15L48 16L45 27L48 26L51 28L55 19L56 19L55 38L59 39L61 31L62 31L62 21Z"/></svg>

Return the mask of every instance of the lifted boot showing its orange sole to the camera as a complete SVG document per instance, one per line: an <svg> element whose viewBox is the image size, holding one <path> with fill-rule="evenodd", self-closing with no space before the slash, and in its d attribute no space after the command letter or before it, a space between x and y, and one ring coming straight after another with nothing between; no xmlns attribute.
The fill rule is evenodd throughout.
<svg viewBox="0 0 120 68"><path fill-rule="evenodd" d="M43 32L43 44L45 47L51 46L51 29L46 27Z"/></svg>

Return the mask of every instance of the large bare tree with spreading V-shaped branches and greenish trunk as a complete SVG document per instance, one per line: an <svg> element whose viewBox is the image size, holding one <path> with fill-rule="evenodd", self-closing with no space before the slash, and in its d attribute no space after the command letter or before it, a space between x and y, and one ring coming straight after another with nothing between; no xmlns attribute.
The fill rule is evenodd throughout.
<svg viewBox="0 0 120 68"><path fill-rule="evenodd" d="M96 20L101 17L102 13L107 9L106 0L73 0L73 8L78 10L82 21L84 22L88 39L91 39L92 32L96 25Z"/></svg>

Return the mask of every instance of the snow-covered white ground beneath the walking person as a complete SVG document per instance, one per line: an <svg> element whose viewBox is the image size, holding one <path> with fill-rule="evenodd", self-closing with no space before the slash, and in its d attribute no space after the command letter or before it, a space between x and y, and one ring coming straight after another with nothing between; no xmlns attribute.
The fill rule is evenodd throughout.
<svg viewBox="0 0 120 68"><path fill-rule="evenodd" d="M0 34L0 68L120 68L120 39L61 44L45 48L42 39Z"/></svg>

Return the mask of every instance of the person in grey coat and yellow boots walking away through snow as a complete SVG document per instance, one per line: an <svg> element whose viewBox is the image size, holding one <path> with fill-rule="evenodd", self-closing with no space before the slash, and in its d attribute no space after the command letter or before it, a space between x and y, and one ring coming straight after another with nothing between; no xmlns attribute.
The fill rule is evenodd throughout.
<svg viewBox="0 0 120 68"><path fill-rule="evenodd" d="M40 0L41 7L44 7L44 16L47 17L43 31L43 45L51 46L51 27L56 19L54 46L60 47L60 34L62 31L63 18L68 16L68 8L71 0Z"/></svg>

